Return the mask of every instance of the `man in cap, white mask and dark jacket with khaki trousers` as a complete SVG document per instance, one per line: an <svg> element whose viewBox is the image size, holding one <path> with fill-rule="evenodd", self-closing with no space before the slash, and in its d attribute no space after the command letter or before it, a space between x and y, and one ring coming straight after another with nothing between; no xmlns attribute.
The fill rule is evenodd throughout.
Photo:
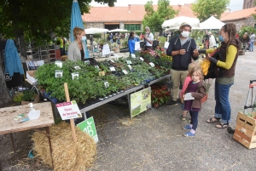
<svg viewBox="0 0 256 171"><path fill-rule="evenodd" d="M179 27L180 34L172 37L166 54L172 56L172 101L167 105L177 105L179 94L179 84L184 83L188 75L188 67L191 58L198 58L198 50L196 49L195 39L189 37L192 27L188 23L183 23Z"/></svg>

